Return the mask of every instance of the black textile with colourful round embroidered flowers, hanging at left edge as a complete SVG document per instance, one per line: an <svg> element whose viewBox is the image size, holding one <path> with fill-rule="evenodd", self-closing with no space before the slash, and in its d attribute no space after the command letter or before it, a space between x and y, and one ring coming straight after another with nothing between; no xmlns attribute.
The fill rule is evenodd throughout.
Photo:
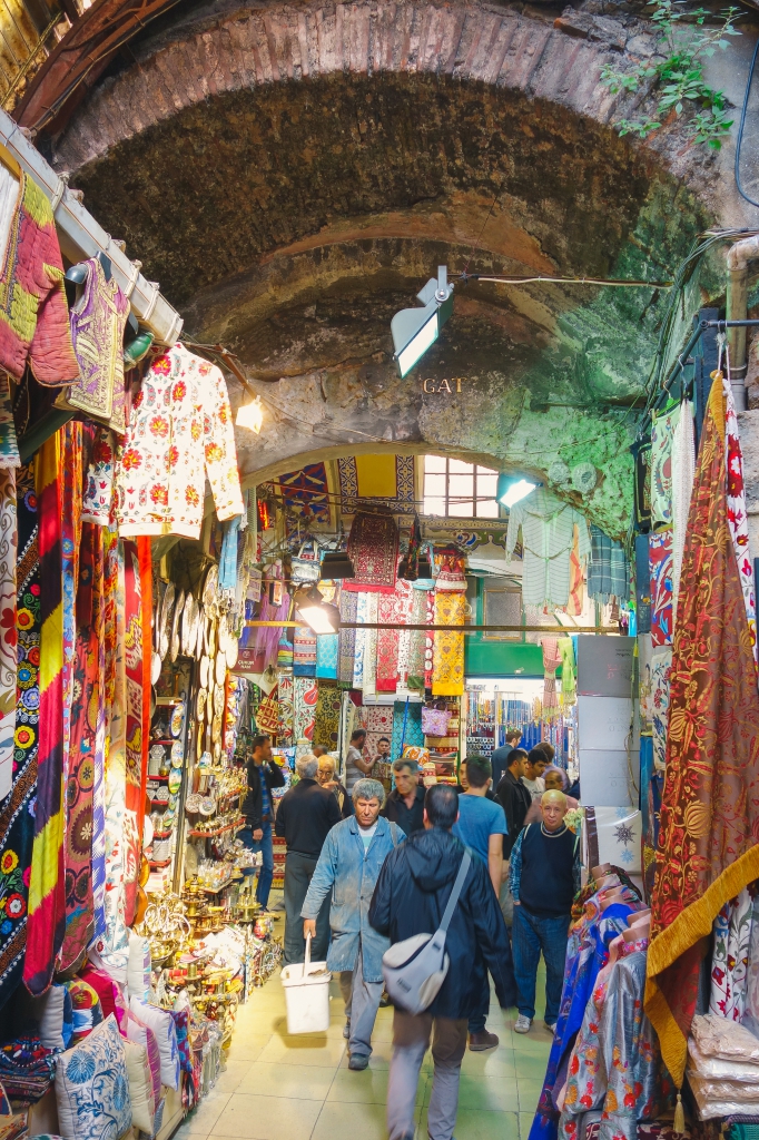
<svg viewBox="0 0 759 1140"><path fill-rule="evenodd" d="M26 910L34 844L34 796L40 715L40 564L33 464L17 472L16 634L17 708L13 787L0 801L0 1009L24 967Z"/></svg>

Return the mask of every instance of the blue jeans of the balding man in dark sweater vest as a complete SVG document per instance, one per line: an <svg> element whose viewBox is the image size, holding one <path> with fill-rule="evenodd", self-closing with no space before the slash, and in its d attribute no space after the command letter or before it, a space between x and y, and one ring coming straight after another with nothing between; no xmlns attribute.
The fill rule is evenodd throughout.
<svg viewBox="0 0 759 1140"><path fill-rule="evenodd" d="M517 1009L530 1019L534 1017L534 991L542 951L546 960L546 1025L555 1025L558 1017L570 918L570 914L561 914L558 918L541 919L523 906L514 907L512 952L519 991Z"/></svg>

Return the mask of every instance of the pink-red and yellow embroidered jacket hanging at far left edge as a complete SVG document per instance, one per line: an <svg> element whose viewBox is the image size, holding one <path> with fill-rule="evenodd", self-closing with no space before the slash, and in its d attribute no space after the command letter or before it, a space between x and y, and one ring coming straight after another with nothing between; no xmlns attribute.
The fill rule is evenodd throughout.
<svg viewBox="0 0 759 1140"><path fill-rule="evenodd" d="M3 211L0 264L0 368L16 380L31 365L40 384L57 388L79 380L68 328L63 260L50 198L24 171L21 181L3 164L0 195L16 193Z"/></svg>

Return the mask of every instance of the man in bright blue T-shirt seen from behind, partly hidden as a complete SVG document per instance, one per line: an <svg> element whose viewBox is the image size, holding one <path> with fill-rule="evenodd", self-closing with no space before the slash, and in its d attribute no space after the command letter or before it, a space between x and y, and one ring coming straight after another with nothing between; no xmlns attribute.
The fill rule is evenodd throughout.
<svg viewBox="0 0 759 1140"><path fill-rule="evenodd" d="M457 839L478 855L488 868L496 899L500 893L504 870L504 836L507 832L506 815L497 799L488 799L492 783L492 767L487 756L467 756L462 763L462 781L466 780L466 791L458 797L458 820L452 831ZM498 1036L485 1029L490 985L487 970L481 969L482 986L480 997L470 1012L470 1049L481 1052L495 1049Z"/></svg>

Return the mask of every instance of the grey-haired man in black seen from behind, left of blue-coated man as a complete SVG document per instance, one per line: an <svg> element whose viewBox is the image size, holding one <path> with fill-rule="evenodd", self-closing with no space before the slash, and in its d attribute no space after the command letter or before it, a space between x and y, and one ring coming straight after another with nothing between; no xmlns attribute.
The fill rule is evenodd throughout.
<svg viewBox="0 0 759 1140"><path fill-rule="evenodd" d="M299 781L283 796L275 820L275 832L287 844L285 860L285 964L302 962L305 942L301 906L321 854L329 829L340 823L337 800L317 783L319 762L311 752L299 756ZM329 942L329 904L321 907L313 928L311 958L323 962Z"/></svg>

